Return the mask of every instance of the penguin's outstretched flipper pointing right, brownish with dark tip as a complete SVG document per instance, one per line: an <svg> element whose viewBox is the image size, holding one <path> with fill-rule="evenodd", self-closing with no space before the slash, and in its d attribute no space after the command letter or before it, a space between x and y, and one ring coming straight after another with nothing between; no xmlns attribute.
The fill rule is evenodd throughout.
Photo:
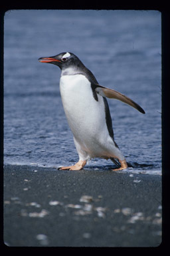
<svg viewBox="0 0 170 256"><path fill-rule="evenodd" d="M118 91L103 87L102 85L96 85L95 90L96 90L96 93L98 93L99 95L101 95L103 97L108 97L110 99L118 99L119 101L122 101L122 102L130 105L131 107L134 107L139 112L145 114L145 111L137 103L132 101L132 99L129 99L129 97L127 97L126 95L119 93Z"/></svg>

